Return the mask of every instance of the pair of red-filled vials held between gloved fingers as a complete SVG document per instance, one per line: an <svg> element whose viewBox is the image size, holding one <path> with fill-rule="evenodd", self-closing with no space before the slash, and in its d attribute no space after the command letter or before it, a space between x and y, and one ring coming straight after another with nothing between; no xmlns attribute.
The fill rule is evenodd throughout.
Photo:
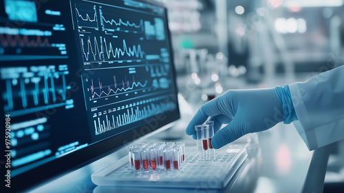
<svg viewBox="0 0 344 193"><path fill-rule="evenodd" d="M214 121L206 121L203 125L195 126L197 134L198 154L204 160L215 158L215 149L211 145L211 139L215 134Z"/></svg>

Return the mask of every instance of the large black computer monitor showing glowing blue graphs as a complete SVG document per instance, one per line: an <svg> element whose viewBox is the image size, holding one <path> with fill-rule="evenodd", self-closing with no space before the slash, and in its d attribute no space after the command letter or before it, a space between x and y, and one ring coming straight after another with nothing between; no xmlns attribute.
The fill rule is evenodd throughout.
<svg viewBox="0 0 344 193"><path fill-rule="evenodd" d="M1 0L0 10L8 190L85 165L180 118L160 4Z"/></svg>

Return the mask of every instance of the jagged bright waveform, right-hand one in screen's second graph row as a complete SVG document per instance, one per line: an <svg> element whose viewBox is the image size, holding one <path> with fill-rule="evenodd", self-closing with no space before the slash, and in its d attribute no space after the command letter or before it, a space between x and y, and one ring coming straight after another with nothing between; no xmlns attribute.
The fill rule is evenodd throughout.
<svg viewBox="0 0 344 193"><path fill-rule="evenodd" d="M105 52L107 54L107 59L110 59L113 57L114 59L120 59L120 57L124 57L127 55L127 57L136 57L143 59L144 57L144 51L141 48L141 45L133 45L132 47L128 47L125 39L123 39L123 45L122 48L113 48L112 43L109 43L109 46L107 45L107 41L104 38L104 44L105 44Z"/></svg>

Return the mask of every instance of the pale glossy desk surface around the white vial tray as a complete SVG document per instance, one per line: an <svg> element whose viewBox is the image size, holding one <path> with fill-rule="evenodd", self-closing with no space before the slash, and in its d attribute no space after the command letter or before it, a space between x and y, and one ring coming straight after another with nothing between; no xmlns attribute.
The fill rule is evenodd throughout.
<svg viewBox="0 0 344 193"><path fill-rule="evenodd" d="M186 145L195 145L191 136L186 136L184 129L178 127L151 136L146 141L162 141L171 134L176 136L176 133L183 137L182 140L186 141ZM243 187L242 185L246 187L245 192L301 192L312 159L312 152L303 143L293 125L279 123L270 130L260 132L258 136L260 151L246 161L237 179L230 183L226 190L219 192L242 190L239 189ZM162 190L157 188L108 187L104 189L92 183L92 173L110 165L125 154L127 154L126 150L110 154L74 172L58 176L36 187L32 192L108 192L110 190L161 192ZM176 190L168 191L175 192ZM194 190L179 190L178 192L194 192Z"/></svg>

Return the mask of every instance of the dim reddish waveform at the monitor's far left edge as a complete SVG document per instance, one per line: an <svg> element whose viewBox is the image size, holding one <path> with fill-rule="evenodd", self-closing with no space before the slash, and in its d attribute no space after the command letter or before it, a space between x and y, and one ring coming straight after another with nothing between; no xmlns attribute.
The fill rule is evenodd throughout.
<svg viewBox="0 0 344 193"><path fill-rule="evenodd" d="M37 48L37 47L51 47L49 40L47 37L44 39L41 39L39 36L34 36L33 38L30 38L27 35L10 35L6 34L4 36L3 34L0 34L0 41L1 41L1 46L3 48L8 48L8 47L25 47L25 48Z"/></svg>

